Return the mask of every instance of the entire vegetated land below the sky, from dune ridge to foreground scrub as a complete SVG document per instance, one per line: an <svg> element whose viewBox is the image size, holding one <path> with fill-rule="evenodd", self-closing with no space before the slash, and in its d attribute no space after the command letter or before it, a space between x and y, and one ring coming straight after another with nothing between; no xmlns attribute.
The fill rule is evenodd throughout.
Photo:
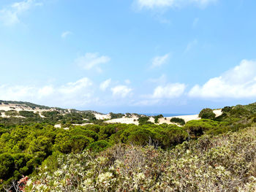
<svg viewBox="0 0 256 192"><path fill-rule="evenodd" d="M138 125L106 123L91 111L7 101L1 107L10 112L0 118L2 191L255 190L255 103L218 114L206 108L196 120L170 124L159 123L161 115L154 123L136 115Z"/></svg>

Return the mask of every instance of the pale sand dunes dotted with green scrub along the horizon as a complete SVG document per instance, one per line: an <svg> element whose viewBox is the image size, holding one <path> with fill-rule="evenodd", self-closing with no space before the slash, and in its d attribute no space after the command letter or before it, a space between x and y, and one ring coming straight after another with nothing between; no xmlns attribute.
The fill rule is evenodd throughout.
<svg viewBox="0 0 256 192"><path fill-rule="evenodd" d="M222 115L221 110L214 110L214 113ZM1 101L0 100L0 123L7 123L10 126L20 123L54 123L56 127L66 128L70 125L86 125L88 123L125 123L139 124L139 118L146 115L136 113L113 113L102 114L100 112L86 110L70 110L61 109L59 107L46 107L38 104L32 104L22 101ZM155 116L148 117L148 122L151 123L167 123L171 122L172 118L182 118L185 122L189 120L199 120L198 115L181 115L176 117L159 117L155 122Z"/></svg>

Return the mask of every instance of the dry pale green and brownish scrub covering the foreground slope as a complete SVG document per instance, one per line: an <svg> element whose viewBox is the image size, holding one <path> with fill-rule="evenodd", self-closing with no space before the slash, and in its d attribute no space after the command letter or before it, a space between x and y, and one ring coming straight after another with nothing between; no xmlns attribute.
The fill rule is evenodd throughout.
<svg viewBox="0 0 256 192"><path fill-rule="evenodd" d="M255 191L256 131L204 136L170 151L115 145L99 155L59 155L26 191Z"/></svg>

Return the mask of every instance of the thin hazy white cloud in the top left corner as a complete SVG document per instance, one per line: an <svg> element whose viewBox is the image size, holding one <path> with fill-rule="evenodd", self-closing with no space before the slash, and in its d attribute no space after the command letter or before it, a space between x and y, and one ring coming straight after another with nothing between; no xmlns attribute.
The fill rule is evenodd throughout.
<svg viewBox="0 0 256 192"><path fill-rule="evenodd" d="M0 10L0 21L6 26L12 26L20 23L20 15L31 9L31 7L42 6L42 3L36 0L25 0L11 4Z"/></svg>

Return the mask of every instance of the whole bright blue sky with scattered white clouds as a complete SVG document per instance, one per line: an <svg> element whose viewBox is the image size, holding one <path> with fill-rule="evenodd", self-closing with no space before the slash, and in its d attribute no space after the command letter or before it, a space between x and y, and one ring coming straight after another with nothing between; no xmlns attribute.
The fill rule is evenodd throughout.
<svg viewBox="0 0 256 192"><path fill-rule="evenodd" d="M197 113L256 101L255 0L1 0L0 100Z"/></svg>

